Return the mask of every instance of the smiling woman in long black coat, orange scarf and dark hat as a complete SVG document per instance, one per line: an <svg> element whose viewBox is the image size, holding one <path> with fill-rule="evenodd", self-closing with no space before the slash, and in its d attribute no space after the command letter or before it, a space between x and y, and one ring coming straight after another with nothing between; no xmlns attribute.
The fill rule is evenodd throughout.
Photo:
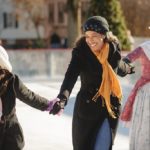
<svg viewBox="0 0 150 150"><path fill-rule="evenodd" d="M67 104L78 76L81 88L77 94L73 114L74 150L111 150L121 106L121 87L116 73L125 76L132 72L130 64L121 60L118 42L107 33L105 18L89 18L72 51L72 59L65 74L52 114Z"/></svg>

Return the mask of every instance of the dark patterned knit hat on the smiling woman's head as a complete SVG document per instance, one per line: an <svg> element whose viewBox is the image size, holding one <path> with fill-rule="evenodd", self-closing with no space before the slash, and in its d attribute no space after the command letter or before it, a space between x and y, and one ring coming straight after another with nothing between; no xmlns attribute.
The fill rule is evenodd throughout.
<svg viewBox="0 0 150 150"><path fill-rule="evenodd" d="M106 33L109 31L109 25L104 17L92 16L84 23L83 31L95 31L97 33L106 35Z"/></svg>

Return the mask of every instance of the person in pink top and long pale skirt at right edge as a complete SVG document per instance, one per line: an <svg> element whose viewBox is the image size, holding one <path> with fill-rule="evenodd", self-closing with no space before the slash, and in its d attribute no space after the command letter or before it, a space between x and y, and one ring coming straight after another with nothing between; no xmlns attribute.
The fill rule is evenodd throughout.
<svg viewBox="0 0 150 150"><path fill-rule="evenodd" d="M132 89L121 120L131 122L130 150L150 149L150 41L146 41L130 52L126 58L139 61L141 76Z"/></svg>

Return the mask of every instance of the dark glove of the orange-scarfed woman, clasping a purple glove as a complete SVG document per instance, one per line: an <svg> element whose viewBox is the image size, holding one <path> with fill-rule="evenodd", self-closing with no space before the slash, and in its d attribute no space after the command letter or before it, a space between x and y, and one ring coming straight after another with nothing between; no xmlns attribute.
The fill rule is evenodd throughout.
<svg viewBox="0 0 150 150"><path fill-rule="evenodd" d="M60 115L62 114L63 110L64 110L64 107L66 105L66 100L60 100L60 101L57 101L52 110L50 111L50 114L53 114L53 115Z"/></svg>

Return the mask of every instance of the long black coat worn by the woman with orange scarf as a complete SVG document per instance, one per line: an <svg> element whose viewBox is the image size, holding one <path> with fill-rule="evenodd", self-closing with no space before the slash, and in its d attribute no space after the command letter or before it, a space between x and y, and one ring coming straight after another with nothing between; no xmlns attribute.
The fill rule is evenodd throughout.
<svg viewBox="0 0 150 150"><path fill-rule="evenodd" d="M118 44L110 42L109 45L108 62L116 73L125 76L129 66L120 61L121 54ZM68 100L74 84L78 76L80 76L81 88L76 97L72 127L74 150L93 150L97 131L105 118L109 120L112 131L112 143L114 141L121 104L117 97L111 95L111 103L117 116L117 119L113 119L109 116L106 107L102 106L100 97L96 102L92 101L93 96L101 85L102 72L102 65L83 37L72 51L72 59L58 95L60 99ZM110 150L111 148L112 145Z"/></svg>

